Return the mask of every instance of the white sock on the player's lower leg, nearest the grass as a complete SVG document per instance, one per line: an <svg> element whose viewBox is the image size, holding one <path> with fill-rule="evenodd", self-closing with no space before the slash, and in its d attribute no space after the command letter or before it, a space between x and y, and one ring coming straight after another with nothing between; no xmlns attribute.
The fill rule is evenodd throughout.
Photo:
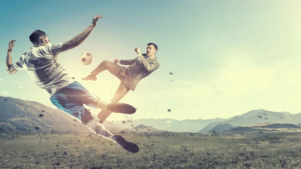
<svg viewBox="0 0 301 169"><path fill-rule="evenodd" d="M113 134L109 130L107 130L103 124L99 123L97 120L95 120L95 119L90 120L88 122L88 128L94 134L102 136L103 138L106 138L106 139L112 141Z"/></svg>

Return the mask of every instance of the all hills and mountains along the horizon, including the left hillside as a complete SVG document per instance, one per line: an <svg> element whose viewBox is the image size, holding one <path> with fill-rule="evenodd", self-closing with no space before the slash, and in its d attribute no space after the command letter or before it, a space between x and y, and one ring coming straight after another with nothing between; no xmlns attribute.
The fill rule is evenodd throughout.
<svg viewBox="0 0 301 169"><path fill-rule="evenodd" d="M93 116L96 117L96 115ZM238 126L260 123L301 125L301 113L291 114L289 112L272 112L259 109L227 119L175 120L149 118L127 119L127 122L124 120L105 121L103 124L112 133L120 133L121 131L212 133L214 130L223 132ZM41 132L50 132L51 130L90 132L80 121L60 109L53 109L34 101L0 96L0 132L11 130L27 132L29 129Z"/></svg>

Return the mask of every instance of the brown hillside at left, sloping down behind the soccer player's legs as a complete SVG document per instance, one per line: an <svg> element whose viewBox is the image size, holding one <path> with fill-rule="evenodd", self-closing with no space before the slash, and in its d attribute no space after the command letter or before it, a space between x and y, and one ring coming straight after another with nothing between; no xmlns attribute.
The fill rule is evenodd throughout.
<svg viewBox="0 0 301 169"><path fill-rule="evenodd" d="M95 119L97 115L92 114ZM19 131L34 132L75 131L89 133L89 129L80 121L60 109L53 109L34 101L25 101L12 97L0 96L0 132ZM104 126L113 134L119 134L124 127L104 121ZM140 131L139 129L127 129L128 131ZM163 130L149 127L147 132L160 132Z"/></svg>

